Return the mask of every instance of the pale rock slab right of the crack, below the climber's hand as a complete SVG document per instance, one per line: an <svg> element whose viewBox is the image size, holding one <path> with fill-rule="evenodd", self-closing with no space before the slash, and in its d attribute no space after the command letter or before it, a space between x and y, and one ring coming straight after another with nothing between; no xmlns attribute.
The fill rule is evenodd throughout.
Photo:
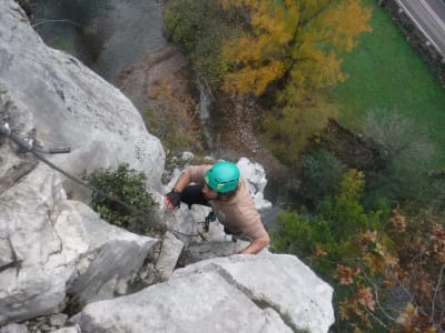
<svg viewBox="0 0 445 333"><path fill-rule="evenodd" d="M233 255L177 270L171 276L218 272L261 306L271 307L294 331L328 332L333 289L294 255ZM264 305L266 304L266 305Z"/></svg>

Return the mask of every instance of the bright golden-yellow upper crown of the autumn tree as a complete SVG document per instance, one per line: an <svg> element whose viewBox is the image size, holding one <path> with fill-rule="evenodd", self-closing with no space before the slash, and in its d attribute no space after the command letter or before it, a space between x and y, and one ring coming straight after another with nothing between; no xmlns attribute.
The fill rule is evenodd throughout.
<svg viewBox="0 0 445 333"><path fill-rule="evenodd" d="M279 100L297 104L305 92L345 79L340 56L370 31L370 9L360 0L221 0L237 8L247 26L222 47L228 69L224 89L261 95L271 83Z"/></svg>

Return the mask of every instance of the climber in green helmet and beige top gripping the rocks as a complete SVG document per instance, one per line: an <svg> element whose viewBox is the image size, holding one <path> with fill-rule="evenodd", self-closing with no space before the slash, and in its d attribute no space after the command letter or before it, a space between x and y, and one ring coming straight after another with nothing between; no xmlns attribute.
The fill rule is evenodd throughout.
<svg viewBox="0 0 445 333"><path fill-rule="evenodd" d="M182 171L175 186L165 195L169 211L185 202L211 206L225 232L247 235L250 244L240 254L256 254L270 240L250 196L247 182L235 163L220 161L215 165L192 165Z"/></svg>

